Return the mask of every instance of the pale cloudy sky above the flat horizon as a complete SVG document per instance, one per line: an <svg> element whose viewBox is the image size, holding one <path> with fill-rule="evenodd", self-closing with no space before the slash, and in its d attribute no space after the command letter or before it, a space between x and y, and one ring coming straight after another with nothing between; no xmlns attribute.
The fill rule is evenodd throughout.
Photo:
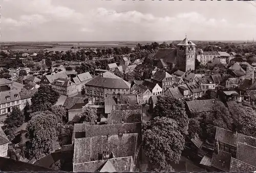
<svg viewBox="0 0 256 173"><path fill-rule="evenodd" d="M2 41L256 39L256 3L1 0Z"/></svg>

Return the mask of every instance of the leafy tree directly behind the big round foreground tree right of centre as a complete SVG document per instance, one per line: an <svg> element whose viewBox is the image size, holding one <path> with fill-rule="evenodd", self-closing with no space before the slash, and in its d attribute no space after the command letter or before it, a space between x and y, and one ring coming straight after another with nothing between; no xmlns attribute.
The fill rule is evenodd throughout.
<svg viewBox="0 0 256 173"><path fill-rule="evenodd" d="M184 103L174 97L163 97L159 99L154 107L155 117L172 118L180 127L183 135L187 134L188 118Z"/></svg>

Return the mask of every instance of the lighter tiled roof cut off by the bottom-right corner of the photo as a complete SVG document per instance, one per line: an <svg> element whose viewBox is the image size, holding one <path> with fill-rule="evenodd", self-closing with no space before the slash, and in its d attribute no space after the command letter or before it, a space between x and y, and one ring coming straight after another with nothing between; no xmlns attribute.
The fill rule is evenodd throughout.
<svg viewBox="0 0 256 173"><path fill-rule="evenodd" d="M230 172L253 172L256 170L255 166L248 165L238 159L231 158Z"/></svg>

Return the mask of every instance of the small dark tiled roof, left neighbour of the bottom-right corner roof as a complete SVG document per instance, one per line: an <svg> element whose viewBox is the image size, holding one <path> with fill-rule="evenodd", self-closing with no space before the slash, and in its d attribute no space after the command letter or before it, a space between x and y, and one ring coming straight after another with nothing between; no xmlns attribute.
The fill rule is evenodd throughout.
<svg viewBox="0 0 256 173"><path fill-rule="evenodd" d="M219 154L214 153L212 155L211 165L220 170L228 172L230 167L230 161L231 154L224 152L223 150L219 150Z"/></svg>

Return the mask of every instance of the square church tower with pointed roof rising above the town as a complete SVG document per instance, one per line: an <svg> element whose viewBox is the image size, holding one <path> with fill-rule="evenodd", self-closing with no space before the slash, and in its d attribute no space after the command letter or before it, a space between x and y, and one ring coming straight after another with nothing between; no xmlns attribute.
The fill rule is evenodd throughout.
<svg viewBox="0 0 256 173"><path fill-rule="evenodd" d="M196 46L187 37L177 45L177 68L183 72L195 70Z"/></svg>

